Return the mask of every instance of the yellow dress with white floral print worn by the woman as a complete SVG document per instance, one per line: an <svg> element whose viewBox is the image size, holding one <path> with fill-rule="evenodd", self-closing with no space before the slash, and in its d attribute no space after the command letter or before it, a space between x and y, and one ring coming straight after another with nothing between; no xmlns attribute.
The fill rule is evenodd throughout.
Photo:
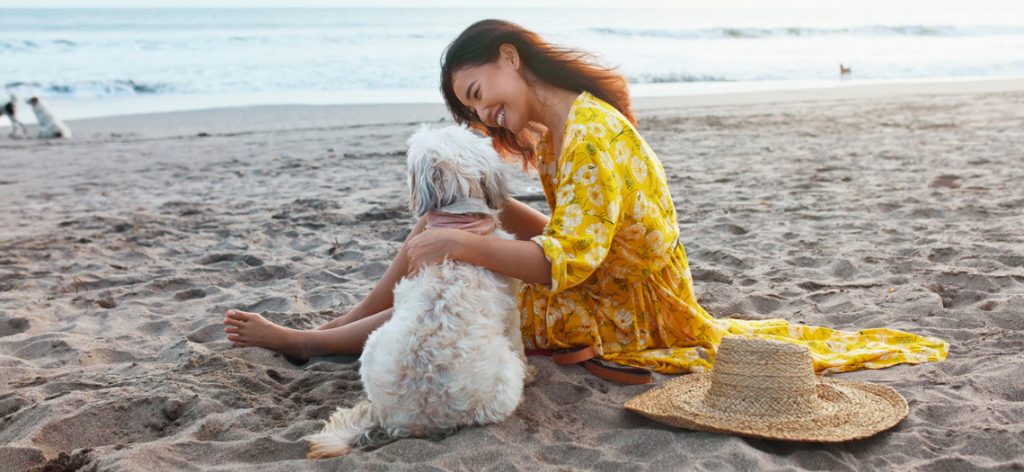
<svg viewBox="0 0 1024 472"><path fill-rule="evenodd" d="M945 341L896 330L713 318L693 294L665 170L629 120L583 92L562 142L557 162L550 139L542 143L551 219L532 241L551 262L551 285L519 292L526 348L591 345L600 358L664 374L710 369L730 335L804 344L818 372L946 357Z"/></svg>

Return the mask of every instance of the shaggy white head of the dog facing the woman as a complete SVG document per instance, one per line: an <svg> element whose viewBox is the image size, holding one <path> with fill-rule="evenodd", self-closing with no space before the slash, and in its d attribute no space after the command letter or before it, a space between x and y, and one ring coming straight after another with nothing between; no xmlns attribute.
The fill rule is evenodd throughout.
<svg viewBox="0 0 1024 472"><path fill-rule="evenodd" d="M490 138L465 126L424 125L409 138L409 187L416 216L472 201L496 211L509 196L504 164Z"/></svg>

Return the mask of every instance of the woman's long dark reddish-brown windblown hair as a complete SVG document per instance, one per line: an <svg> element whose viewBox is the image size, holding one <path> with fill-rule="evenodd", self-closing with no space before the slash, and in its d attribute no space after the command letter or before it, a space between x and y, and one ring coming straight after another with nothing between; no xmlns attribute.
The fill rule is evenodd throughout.
<svg viewBox="0 0 1024 472"><path fill-rule="evenodd" d="M441 93L455 121L485 131L493 138L499 153L518 154L523 159L523 167L536 165L539 130L527 126L516 134L505 128L486 126L476 116L476 111L459 101L452 75L463 68L497 60L502 44L514 46L526 71L537 79L573 92L590 92L614 106L636 125L626 78L613 68L598 66L586 51L548 43L537 33L516 24L483 19L467 28L444 50L441 58Z"/></svg>

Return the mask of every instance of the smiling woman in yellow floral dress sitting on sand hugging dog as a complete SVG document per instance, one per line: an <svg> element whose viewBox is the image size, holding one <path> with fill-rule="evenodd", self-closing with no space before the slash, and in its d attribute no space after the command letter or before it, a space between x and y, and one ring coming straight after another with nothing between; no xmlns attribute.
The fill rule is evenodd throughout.
<svg viewBox="0 0 1024 472"><path fill-rule="evenodd" d="M390 316L402 276L444 258L519 278L527 348L591 346L599 358L667 374L699 372L722 337L807 345L817 371L941 360L944 341L895 330L856 333L781 319L715 319L698 304L665 171L636 129L626 80L519 26L482 20L447 48L441 92L459 123L536 167L551 218L510 201L503 227L517 241L457 229L410 233L381 282L351 311L297 331L229 310L228 340L300 357L355 354Z"/></svg>

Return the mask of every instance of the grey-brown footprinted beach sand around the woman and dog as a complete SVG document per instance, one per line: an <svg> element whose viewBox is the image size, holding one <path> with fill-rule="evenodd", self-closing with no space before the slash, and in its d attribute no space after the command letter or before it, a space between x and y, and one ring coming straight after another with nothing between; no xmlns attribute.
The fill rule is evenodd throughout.
<svg viewBox="0 0 1024 472"><path fill-rule="evenodd" d="M837 376L901 392L895 429L678 430L623 409L651 386L531 357L504 423L306 461L300 438L361 398L357 363L232 348L221 318L310 328L364 296L414 221L404 141L444 112L250 108L0 137L0 469L1024 468L1024 81L637 108L713 314L949 341L945 362Z"/></svg>

